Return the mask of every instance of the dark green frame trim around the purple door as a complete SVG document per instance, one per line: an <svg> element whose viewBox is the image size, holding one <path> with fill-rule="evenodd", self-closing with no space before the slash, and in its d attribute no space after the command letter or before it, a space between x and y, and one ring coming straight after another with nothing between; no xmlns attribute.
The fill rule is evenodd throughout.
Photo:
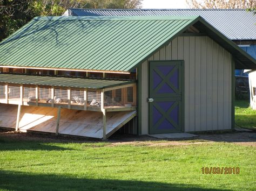
<svg viewBox="0 0 256 191"><path fill-rule="evenodd" d="M148 81L148 93L147 95L150 96L150 63L154 63L154 62L181 62L181 132L185 132L185 65L184 65L184 60L150 60L148 61L148 71L147 73L149 74L149 81ZM148 97L149 98L149 97ZM147 102L147 104L149 104L149 102ZM149 120L149 127L148 127L148 132L150 135L150 107L148 107L149 110L148 112L148 120ZM174 132L173 132L174 133Z"/></svg>

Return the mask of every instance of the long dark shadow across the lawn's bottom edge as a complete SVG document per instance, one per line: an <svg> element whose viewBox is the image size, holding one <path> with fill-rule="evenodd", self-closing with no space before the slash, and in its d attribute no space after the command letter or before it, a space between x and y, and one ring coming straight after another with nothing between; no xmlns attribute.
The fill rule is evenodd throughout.
<svg viewBox="0 0 256 191"><path fill-rule="evenodd" d="M53 174L0 171L0 189L8 190L221 190L197 185L132 180L70 178Z"/></svg>

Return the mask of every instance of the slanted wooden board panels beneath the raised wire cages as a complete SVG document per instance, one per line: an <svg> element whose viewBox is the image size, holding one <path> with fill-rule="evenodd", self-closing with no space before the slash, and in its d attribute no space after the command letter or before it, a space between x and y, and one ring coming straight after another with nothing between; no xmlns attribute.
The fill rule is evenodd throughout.
<svg viewBox="0 0 256 191"><path fill-rule="evenodd" d="M16 126L17 105L0 104L0 126ZM22 131L56 132L57 108L22 106L19 129ZM136 111L106 112L106 138L129 122ZM61 109L59 134L103 138L102 112Z"/></svg>

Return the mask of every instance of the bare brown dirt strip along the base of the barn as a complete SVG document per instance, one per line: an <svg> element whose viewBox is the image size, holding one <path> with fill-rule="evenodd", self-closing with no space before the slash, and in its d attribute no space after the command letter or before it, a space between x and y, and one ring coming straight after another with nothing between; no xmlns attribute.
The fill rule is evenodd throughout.
<svg viewBox="0 0 256 191"><path fill-rule="evenodd" d="M56 142L56 143L97 143L102 142L99 139L80 138L80 137L65 137L49 133L22 133L10 130L0 129L0 138L6 137L15 140L33 140L39 142ZM176 146L176 145L194 145L194 144L211 144L214 142L227 142L243 146L256 147L255 132L226 132L213 134L199 134L197 139L192 140L170 140L157 139L150 136L134 136L125 134L114 134L106 142L110 143L106 146L132 145L132 146Z"/></svg>

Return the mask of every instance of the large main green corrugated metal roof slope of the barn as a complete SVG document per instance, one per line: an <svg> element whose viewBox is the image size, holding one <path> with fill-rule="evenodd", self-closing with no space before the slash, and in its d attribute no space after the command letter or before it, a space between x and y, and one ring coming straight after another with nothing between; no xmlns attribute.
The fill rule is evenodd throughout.
<svg viewBox="0 0 256 191"><path fill-rule="evenodd" d="M37 17L0 43L0 65L128 72L197 19Z"/></svg>

